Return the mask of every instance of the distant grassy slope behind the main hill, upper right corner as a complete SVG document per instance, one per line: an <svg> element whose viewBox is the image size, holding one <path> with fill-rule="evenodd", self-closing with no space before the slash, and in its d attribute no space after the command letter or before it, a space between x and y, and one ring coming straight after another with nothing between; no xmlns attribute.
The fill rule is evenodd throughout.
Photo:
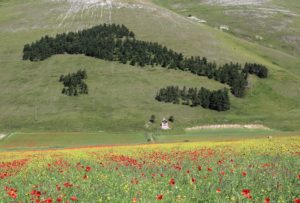
<svg viewBox="0 0 300 203"><path fill-rule="evenodd" d="M193 15L211 27L225 25L235 36L292 55L300 54L298 0L213 1L153 0L183 16Z"/></svg>

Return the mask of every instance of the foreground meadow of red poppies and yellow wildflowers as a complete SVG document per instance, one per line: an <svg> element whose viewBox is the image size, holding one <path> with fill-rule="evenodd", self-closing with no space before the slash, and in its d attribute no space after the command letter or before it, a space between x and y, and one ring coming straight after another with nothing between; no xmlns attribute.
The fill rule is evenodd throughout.
<svg viewBox="0 0 300 203"><path fill-rule="evenodd" d="M0 153L0 202L300 202L300 137Z"/></svg>

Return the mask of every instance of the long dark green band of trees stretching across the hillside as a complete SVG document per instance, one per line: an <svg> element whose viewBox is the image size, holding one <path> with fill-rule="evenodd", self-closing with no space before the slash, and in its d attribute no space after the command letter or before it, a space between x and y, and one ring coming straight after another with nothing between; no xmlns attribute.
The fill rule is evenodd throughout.
<svg viewBox="0 0 300 203"><path fill-rule="evenodd" d="M217 66L205 57L185 57L161 44L136 40L135 34L127 27L115 24L103 24L78 32L58 34L56 37L45 36L24 46L23 59L39 61L64 53L85 54L133 66L151 65L189 71L229 85L236 97L245 95L248 73L267 76L267 68L263 65L246 64L244 69L234 63Z"/></svg>

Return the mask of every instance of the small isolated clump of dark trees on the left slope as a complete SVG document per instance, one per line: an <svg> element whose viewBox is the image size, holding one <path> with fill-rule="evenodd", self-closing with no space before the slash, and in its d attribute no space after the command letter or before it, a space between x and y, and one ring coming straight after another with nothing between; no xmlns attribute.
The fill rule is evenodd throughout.
<svg viewBox="0 0 300 203"><path fill-rule="evenodd" d="M62 94L68 96L77 96L79 94L88 94L88 86L83 81L87 79L85 70L78 70L76 73L69 73L68 75L61 75L59 82L63 83L64 88Z"/></svg>

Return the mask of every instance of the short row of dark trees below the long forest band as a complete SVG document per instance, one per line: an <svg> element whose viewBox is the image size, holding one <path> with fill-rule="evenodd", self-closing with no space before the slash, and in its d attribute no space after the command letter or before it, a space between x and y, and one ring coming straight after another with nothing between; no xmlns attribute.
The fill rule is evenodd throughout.
<svg viewBox="0 0 300 203"><path fill-rule="evenodd" d="M230 109L230 100L227 89L210 91L206 88L180 89L178 86L168 86L158 91L155 99L160 102L184 104L192 107L202 106L216 111Z"/></svg>

